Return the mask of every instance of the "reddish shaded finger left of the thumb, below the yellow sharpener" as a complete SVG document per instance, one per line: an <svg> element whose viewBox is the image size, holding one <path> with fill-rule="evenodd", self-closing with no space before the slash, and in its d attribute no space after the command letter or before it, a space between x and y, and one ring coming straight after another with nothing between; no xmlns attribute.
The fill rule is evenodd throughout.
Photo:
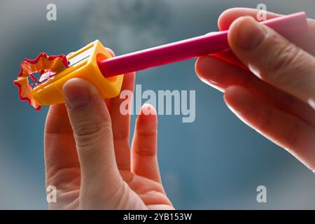
<svg viewBox="0 0 315 224"><path fill-rule="evenodd" d="M64 176L70 174L68 181L72 181L71 177L77 178L80 165L64 104L50 106L45 123L44 146L46 185L65 190L62 185Z"/></svg>

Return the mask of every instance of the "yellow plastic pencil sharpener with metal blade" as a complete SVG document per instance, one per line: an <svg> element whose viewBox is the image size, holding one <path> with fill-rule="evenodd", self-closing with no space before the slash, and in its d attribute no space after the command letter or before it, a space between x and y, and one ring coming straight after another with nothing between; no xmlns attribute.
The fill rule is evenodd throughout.
<svg viewBox="0 0 315 224"><path fill-rule="evenodd" d="M98 61L111 57L100 41L94 41L80 50L66 56L68 67L63 71L51 74L43 73L39 84L31 91L31 98L38 105L53 105L64 103L62 86L71 78L84 78L99 90L104 99L116 97L120 94L123 74L105 78Z"/></svg>

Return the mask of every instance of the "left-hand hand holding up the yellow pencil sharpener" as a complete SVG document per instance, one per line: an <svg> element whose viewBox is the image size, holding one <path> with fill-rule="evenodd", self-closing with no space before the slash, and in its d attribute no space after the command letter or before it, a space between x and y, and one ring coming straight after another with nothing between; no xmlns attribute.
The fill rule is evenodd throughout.
<svg viewBox="0 0 315 224"><path fill-rule="evenodd" d="M134 89L134 73L122 90ZM106 100L87 81L64 84L66 106L51 106L45 124L46 186L57 188L50 209L174 209L157 158L157 116L137 119L130 153L130 116L119 96ZM148 114L148 113L146 113Z"/></svg>

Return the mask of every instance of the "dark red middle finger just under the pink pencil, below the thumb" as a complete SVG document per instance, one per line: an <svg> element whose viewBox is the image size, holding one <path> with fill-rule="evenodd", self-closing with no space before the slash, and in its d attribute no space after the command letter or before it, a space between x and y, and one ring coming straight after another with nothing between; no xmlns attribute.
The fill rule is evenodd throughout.
<svg viewBox="0 0 315 224"><path fill-rule="evenodd" d="M244 71L213 56L201 57L195 67L204 83L222 92L230 85L245 87L277 109L291 113L315 127L315 111L311 106L253 76L250 71Z"/></svg>

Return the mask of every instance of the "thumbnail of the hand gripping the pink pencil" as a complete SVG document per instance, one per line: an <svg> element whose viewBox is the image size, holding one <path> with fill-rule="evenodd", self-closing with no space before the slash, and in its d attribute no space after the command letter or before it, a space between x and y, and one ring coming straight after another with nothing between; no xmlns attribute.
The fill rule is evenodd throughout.
<svg viewBox="0 0 315 224"><path fill-rule="evenodd" d="M244 18L239 23L236 41L244 50L253 50L264 38L265 30L253 18Z"/></svg>

